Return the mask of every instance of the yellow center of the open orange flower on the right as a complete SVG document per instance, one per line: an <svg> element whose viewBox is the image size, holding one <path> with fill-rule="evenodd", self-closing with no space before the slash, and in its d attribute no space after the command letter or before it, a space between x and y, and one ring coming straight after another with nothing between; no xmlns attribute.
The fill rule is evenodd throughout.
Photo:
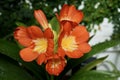
<svg viewBox="0 0 120 80"><path fill-rule="evenodd" d="M65 51L72 52L78 48L74 36L65 35L62 39L61 46Z"/></svg>

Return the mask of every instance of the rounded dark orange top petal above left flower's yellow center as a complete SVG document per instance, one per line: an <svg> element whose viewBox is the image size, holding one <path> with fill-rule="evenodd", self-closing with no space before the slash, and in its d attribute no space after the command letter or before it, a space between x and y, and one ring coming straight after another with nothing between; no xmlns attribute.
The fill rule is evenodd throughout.
<svg viewBox="0 0 120 80"><path fill-rule="evenodd" d="M30 26L27 28L27 32L32 39L43 37L43 32L37 26Z"/></svg>

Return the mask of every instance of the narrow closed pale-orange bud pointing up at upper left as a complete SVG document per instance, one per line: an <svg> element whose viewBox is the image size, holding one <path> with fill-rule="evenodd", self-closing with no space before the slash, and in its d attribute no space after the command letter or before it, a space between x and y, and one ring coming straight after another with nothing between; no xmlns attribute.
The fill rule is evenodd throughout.
<svg viewBox="0 0 120 80"><path fill-rule="evenodd" d="M42 10L35 10L34 16L44 29L48 28L48 22Z"/></svg>

